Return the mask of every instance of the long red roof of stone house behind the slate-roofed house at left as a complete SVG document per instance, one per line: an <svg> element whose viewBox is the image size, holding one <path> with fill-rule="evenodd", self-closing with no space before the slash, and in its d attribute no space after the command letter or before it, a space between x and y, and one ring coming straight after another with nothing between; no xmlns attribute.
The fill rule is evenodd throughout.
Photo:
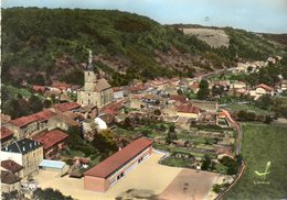
<svg viewBox="0 0 287 200"><path fill-rule="evenodd" d="M26 125L29 123L35 122L35 121L40 121L43 122L45 120L49 120L50 118L54 116L56 113L54 113L51 110L43 110L41 112L28 115L28 116L21 116L15 120L11 120L10 123L17 126L23 126Z"/></svg>

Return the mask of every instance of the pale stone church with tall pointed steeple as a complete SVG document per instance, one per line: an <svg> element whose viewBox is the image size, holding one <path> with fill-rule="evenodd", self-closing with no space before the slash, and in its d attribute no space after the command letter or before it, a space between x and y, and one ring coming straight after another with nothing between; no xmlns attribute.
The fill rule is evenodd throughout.
<svg viewBox="0 0 287 200"><path fill-rule="evenodd" d="M89 51L88 65L84 71L85 85L77 92L77 103L82 105L104 105L113 101L114 95L111 86L105 78L100 78L94 71L92 51Z"/></svg>

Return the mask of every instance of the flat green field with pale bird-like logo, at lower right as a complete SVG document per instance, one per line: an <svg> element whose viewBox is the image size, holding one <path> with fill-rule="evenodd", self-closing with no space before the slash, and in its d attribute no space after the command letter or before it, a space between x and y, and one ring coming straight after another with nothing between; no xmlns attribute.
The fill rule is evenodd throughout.
<svg viewBox="0 0 287 200"><path fill-rule="evenodd" d="M224 200L264 200L287 198L287 127L247 123L243 125L242 156L246 170ZM262 181L255 170L263 173L270 162L270 174Z"/></svg>

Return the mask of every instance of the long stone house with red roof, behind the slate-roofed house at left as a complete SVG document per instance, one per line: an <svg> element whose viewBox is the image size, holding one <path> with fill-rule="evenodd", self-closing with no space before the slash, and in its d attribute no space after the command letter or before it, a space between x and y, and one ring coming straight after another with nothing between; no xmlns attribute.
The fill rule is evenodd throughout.
<svg viewBox="0 0 287 200"><path fill-rule="evenodd" d="M43 110L31 115L11 120L9 123L4 124L4 126L11 130L17 138L30 137L46 130L49 119L55 114L56 113L51 110Z"/></svg>

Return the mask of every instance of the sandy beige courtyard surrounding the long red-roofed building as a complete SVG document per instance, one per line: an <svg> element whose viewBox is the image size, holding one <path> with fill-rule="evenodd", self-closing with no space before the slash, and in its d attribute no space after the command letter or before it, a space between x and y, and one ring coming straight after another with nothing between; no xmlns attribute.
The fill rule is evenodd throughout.
<svg viewBox="0 0 287 200"><path fill-rule="evenodd" d="M173 199L174 195L180 199L190 199L191 196L194 199L210 199L209 192L219 178L217 174L162 166L158 164L161 157L162 155L152 153L105 193L84 190L84 178L60 178L56 173L44 170L34 178L43 189L59 189L63 195L79 200L137 199L135 197L168 200Z"/></svg>

